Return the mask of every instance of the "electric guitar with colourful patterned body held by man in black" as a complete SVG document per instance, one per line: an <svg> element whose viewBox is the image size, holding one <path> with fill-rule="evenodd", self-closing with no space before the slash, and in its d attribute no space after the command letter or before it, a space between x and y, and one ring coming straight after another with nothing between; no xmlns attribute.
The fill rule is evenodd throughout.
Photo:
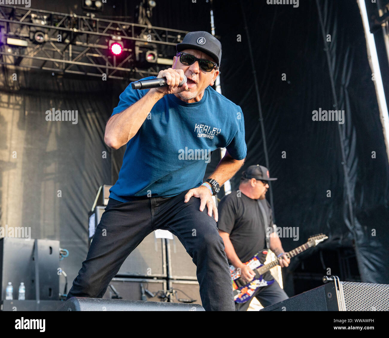
<svg viewBox="0 0 389 338"><path fill-rule="evenodd" d="M298 254L301 254L301 252L304 252L310 247L315 247L317 244L326 240L327 238L328 236L322 234L312 236L308 238L307 243L300 245L292 251L287 252L285 255L288 258L292 258ZM264 280L262 276L265 272L278 265L279 259L277 258L271 263L264 265L259 262L258 254L259 253L257 253L254 257L245 263L255 273L254 279L249 283L246 283L242 278L240 278L240 269L235 269L233 265L230 265L235 303L245 303L249 301L258 287L263 287L274 283L274 279Z"/></svg>

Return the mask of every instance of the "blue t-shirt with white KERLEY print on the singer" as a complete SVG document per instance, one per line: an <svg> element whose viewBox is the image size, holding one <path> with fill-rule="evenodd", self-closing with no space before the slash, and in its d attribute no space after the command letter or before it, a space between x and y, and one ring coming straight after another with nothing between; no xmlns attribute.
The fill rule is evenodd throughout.
<svg viewBox="0 0 389 338"><path fill-rule="evenodd" d="M144 78L154 79L154 77ZM132 89L119 96L112 115L140 100L147 90ZM171 197L200 186L210 152L226 147L234 159L244 159L244 119L238 105L208 86L199 102L186 103L165 95L127 143L119 179L110 197Z"/></svg>

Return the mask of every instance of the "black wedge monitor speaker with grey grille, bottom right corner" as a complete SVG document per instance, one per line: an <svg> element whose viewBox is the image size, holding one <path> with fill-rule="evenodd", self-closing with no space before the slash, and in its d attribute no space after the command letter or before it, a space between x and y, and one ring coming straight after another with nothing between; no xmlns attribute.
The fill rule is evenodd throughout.
<svg viewBox="0 0 389 338"><path fill-rule="evenodd" d="M260 311L389 311L389 285L329 282Z"/></svg>

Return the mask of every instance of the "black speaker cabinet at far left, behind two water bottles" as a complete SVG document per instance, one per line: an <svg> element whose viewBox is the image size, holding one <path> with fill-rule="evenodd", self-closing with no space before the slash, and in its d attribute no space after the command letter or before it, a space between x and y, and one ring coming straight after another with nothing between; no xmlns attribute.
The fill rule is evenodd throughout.
<svg viewBox="0 0 389 338"><path fill-rule="evenodd" d="M5 300L8 282L13 286L13 299L18 299L21 282L25 299L37 299L36 278L39 278L39 299L58 300L60 278L60 242L4 237L0 239L1 299ZM36 269L37 268L37 269Z"/></svg>

